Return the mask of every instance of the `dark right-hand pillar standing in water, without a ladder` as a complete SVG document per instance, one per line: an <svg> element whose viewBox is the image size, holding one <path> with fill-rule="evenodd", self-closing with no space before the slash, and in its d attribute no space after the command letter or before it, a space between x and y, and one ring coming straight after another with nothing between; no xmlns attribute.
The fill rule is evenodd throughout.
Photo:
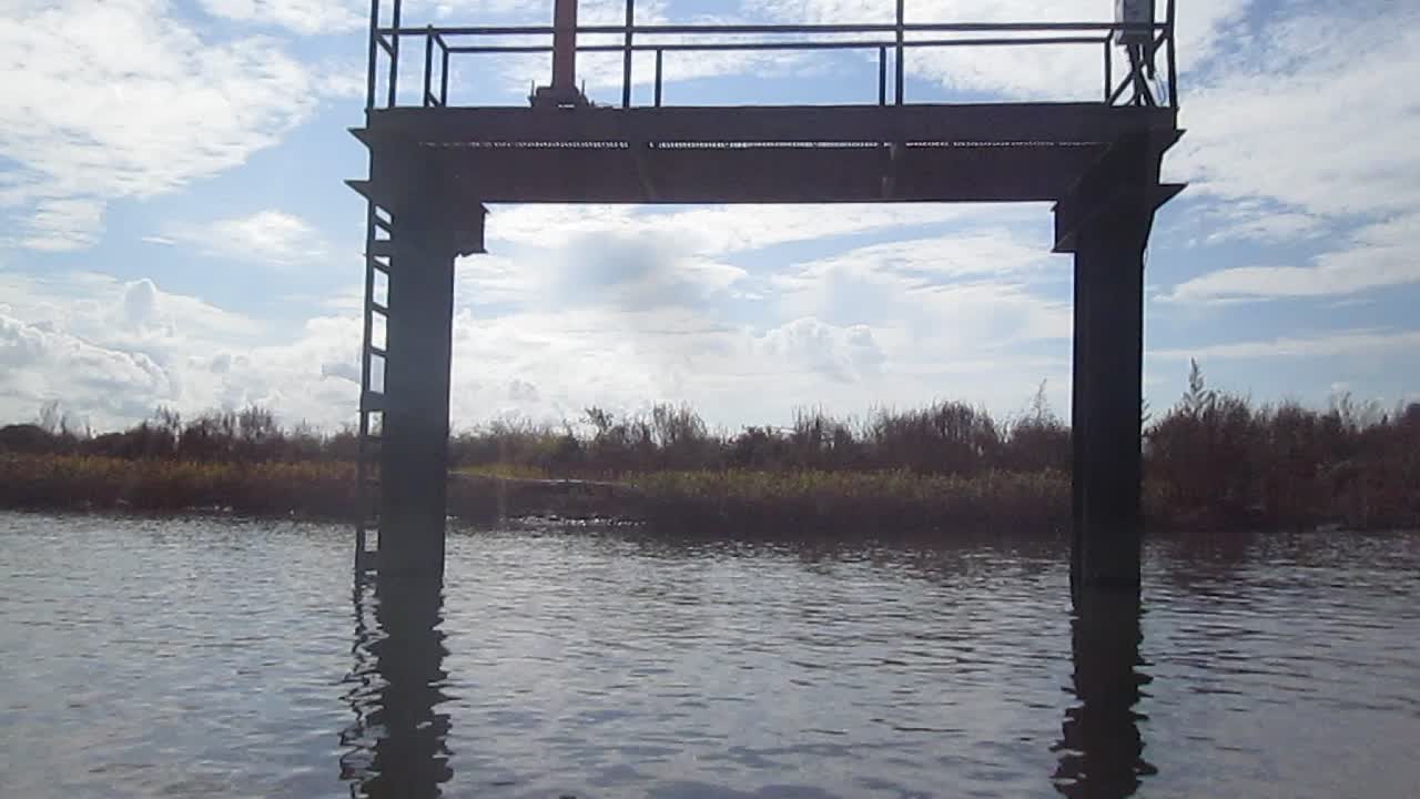
<svg viewBox="0 0 1420 799"><path fill-rule="evenodd" d="M1143 252L1152 206L1078 230L1071 556L1074 586L1139 591Z"/></svg>

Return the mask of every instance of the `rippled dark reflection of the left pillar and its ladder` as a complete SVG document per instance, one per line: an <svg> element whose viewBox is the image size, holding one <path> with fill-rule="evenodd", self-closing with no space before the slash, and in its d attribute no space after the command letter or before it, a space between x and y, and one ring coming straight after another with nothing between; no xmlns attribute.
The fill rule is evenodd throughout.
<svg viewBox="0 0 1420 799"><path fill-rule="evenodd" d="M433 798L449 782L450 697L437 581L355 580L354 668L345 694L355 722L341 735L341 779L352 798Z"/></svg>

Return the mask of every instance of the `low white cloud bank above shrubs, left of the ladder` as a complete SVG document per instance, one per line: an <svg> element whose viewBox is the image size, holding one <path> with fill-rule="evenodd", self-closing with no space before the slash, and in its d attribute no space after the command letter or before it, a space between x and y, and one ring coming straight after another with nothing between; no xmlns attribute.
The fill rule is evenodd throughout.
<svg viewBox="0 0 1420 799"><path fill-rule="evenodd" d="M156 405L185 414L260 402L288 422L351 421L359 318L317 317L295 330L173 294L152 280L0 276L0 418L31 418L47 400L97 429ZM356 367L358 368L358 367ZM349 371L349 370L345 370ZM358 371L354 372L358 378Z"/></svg>

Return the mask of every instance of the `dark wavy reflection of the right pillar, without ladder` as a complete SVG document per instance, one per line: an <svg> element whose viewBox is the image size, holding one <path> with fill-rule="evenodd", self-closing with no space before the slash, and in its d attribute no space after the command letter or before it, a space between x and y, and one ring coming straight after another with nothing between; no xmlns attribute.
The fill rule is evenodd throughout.
<svg viewBox="0 0 1420 799"><path fill-rule="evenodd" d="M1140 687L1150 682L1139 670L1140 616L1137 597L1079 597L1071 618L1076 704L1065 711L1054 748L1055 789L1065 796L1133 796L1145 776L1157 773L1143 759L1139 722L1146 717L1135 711Z"/></svg>

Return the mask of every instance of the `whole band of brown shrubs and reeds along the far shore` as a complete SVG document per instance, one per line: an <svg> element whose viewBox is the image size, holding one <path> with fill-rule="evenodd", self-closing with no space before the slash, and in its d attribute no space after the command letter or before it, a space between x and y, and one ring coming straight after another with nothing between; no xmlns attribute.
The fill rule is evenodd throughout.
<svg viewBox="0 0 1420 799"><path fill-rule="evenodd" d="M351 431L281 428L263 408L126 431L70 429L54 409L0 428L0 508L220 510L349 520ZM1037 397L1011 419L961 402L787 429L710 431L686 407L559 427L496 422L450 439L449 512L623 519L699 533L1058 535L1069 428ZM1258 405L1204 385L1145 428L1154 527L1420 527L1420 404L1392 412Z"/></svg>

